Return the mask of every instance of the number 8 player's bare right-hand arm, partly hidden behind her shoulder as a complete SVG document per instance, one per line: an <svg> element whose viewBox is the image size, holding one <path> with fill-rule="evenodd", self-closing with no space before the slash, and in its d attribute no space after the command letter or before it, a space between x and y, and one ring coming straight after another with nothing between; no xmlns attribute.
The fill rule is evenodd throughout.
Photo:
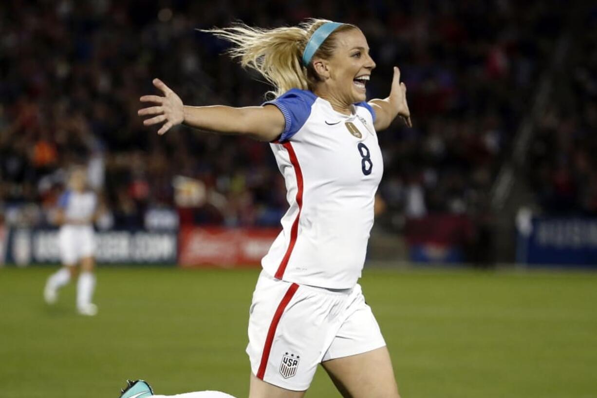
<svg viewBox="0 0 597 398"><path fill-rule="evenodd" d="M408 127L413 127L410 118L410 111L407 103L407 86L400 82L400 69L394 66L394 77L390 96L386 99L372 99L369 105L376 113L376 120L373 124L377 131L389 127L396 116L404 120Z"/></svg>

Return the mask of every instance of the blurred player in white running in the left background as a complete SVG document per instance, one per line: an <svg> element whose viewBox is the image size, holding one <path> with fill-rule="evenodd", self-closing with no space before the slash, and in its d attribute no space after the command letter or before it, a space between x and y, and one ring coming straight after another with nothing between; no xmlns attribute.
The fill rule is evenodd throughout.
<svg viewBox="0 0 597 398"><path fill-rule="evenodd" d="M91 298L96 286L93 222L99 215L97 195L87 189L87 170L84 167L72 170L67 185L59 198L56 215L56 222L60 225L59 246L63 267L48 278L44 298L48 304L54 304L59 289L76 276L76 265L80 264L76 308L81 315L94 316L97 306Z"/></svg>

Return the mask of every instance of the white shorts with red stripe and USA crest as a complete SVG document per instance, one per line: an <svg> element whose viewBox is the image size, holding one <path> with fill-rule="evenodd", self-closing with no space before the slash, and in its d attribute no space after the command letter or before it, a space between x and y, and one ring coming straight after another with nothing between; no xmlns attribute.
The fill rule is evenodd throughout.
<svg viewBox="0 0 597 398"><path fill-rule="evenodd" d="M251 371L287 390L309 388L317 366L384 347L361 286L329 290L261 271L249 317Z"/></svg>

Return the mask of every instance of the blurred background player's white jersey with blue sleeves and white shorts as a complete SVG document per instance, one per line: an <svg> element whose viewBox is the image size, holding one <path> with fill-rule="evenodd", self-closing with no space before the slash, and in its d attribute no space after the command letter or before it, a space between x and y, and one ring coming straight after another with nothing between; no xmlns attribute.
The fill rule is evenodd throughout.
<svg viewBox="0 0 597 398"><path fill-rule="evenodd" d="M60 257L63 265L75 265L80 259L93 257L96 251L91 218L96 212L97 195L94 192L65 191L58 200L66 222L60 227ZM69 224L69 221L86 221Z"/></svg>

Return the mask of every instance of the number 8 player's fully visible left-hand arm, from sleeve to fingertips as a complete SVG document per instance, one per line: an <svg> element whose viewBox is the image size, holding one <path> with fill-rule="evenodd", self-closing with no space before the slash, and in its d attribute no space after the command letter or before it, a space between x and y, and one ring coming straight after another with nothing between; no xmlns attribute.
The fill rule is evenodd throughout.
<svg viewBox="0 0 597 398"><path fill-rule="evenodd" d="M214 131L221 134L246 135L261 141L273 141L284 130L284 115L275 106L185 106L182 100L160 79L153 79L153 85L164 93L160 96L143 96L141 102L152 102L157 106L139 109L139 116L152 116L144 125L164 123L158 134L164 134L177 124Z"/></svg>

